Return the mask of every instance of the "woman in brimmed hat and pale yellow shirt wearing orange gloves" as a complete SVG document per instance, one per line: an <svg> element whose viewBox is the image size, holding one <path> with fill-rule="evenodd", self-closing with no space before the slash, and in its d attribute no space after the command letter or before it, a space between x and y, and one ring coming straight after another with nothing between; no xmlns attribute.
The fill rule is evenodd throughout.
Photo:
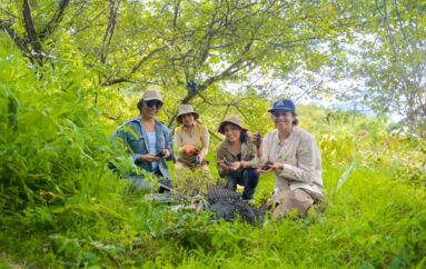
<svg viewBox="0 0 426 269"><path fill-rule="evenodd" d="M205 124L197 122L199 114L190 104L180 104L177 116L179 127L175 129L174 142L178 159L176 169L192 169L200 167L208 172L206 155L209 149L209 132Z"/></svg>

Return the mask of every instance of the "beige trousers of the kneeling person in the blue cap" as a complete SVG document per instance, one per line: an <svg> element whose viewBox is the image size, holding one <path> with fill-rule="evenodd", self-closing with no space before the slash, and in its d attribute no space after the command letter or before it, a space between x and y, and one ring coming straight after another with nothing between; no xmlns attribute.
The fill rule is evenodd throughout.
<svg viewBox="0 0 426 269"><path fill-rule="evenodd" d="M301 189L278 191L266 203L274 210L274 220L281 219L294 210L297 210L298 216L305 216L313 205L314 198Z"/></svg>

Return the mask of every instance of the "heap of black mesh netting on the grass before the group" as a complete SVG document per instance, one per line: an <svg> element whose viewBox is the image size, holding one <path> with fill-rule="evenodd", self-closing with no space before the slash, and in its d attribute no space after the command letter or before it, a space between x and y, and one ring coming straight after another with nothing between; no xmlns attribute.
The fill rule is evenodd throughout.
<svg viewBox="0 0 426 269"><path fill-rule="evenodd" d="M220 186L211 186L207 192L206 200L208 208L216 213L218 220L232 221L239 216L242 221L261 226L265 209L251 207L232 190Z"/></svg>

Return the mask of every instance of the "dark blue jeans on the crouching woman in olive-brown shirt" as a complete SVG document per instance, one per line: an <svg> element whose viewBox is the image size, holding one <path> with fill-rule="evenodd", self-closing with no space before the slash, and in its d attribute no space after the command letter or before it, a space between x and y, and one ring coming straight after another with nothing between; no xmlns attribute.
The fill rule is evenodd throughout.
<svg viewBox="0 0 426 269"><path fill-rule="evenodd" d="M237 185L244 187L242 199L250 200L255 193L257 183L259 183L259 173L255 168L244 169L238 176L228 175L228 185L227 188L236 191Z"/></svg>

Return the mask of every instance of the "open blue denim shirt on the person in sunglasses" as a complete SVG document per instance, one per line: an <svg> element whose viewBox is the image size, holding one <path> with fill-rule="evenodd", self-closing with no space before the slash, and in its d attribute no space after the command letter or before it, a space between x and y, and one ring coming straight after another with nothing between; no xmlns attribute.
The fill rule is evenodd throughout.
<svg viewBox="0 0 426 269"><path fill-rule="evenodd" d="M155 126L156 153L164 149L168 149L171 153L168 157L168 160L170 160L174 156L170 131L162 122L158 120L155 121ZM125 147L127 155L132 159L135 165L148 172L155 172L151 162L140 160L142 155L150 152L148 134L140 121L140 116L130 119L122 126L118 127L112 136L112 141L116 143L116 146ZM165 178L169 180L171 179L165 158L160 159L158 169Z"/></svg>

